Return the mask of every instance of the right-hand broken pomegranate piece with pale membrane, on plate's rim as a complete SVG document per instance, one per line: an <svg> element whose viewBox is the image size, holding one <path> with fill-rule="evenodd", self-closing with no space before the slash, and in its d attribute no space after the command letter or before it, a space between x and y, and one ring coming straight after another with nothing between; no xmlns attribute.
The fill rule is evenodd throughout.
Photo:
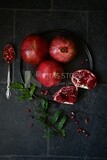
<svg viewBox="0 0 107 160"><path fill-rule="evenodd" d="M96 76L86 69L81 69L73 72L71 81L76 87L84 89L93 89L97 84Z"/></svg>

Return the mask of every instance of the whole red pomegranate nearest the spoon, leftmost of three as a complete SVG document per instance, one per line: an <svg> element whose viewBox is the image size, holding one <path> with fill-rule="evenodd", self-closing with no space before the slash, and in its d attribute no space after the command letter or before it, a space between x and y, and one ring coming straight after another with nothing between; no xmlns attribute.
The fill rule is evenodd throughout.
<svg viewBox="0 0 107 160"><path fill-rule="evenodd" d="M41 36L29 35L23 40L20 53L26 63L39 64L48 54L48 44Z"/></svg>

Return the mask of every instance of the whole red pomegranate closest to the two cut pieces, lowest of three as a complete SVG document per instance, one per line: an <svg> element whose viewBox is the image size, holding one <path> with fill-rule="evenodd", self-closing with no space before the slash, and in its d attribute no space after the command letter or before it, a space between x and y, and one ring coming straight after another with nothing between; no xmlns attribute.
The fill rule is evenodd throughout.
<svg viewBox="0 0 107 160"><path fill-rule="evenodd" d="M62 76L63 68L54 60L41 62L36 70L36 79L46 87L57 86Z"/></svg>

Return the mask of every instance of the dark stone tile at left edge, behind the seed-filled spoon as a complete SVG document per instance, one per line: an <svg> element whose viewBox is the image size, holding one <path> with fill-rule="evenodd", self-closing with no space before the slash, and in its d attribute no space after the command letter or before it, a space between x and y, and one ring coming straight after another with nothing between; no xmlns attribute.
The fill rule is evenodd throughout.
<svg viewBox="0 0 107 160"><path fill-rule="evenodd" d="M3 61L3 48L13 43L13 11L0 10L0 82L6 82L7 64Z"/></svg>

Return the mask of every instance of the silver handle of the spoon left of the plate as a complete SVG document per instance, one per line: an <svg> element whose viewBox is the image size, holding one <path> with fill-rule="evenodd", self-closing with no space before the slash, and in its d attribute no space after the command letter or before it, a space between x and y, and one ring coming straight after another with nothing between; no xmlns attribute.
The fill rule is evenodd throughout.
<svg viewBox="0 0 107 160"><path fill-rule="evenodd" d="M7 73L7 87L6 87L6 98L9 99L11 96L11 91L10 91L10 81L11 81L11 77L10 77L10 64L8 64L8 73Z"/></svg>

